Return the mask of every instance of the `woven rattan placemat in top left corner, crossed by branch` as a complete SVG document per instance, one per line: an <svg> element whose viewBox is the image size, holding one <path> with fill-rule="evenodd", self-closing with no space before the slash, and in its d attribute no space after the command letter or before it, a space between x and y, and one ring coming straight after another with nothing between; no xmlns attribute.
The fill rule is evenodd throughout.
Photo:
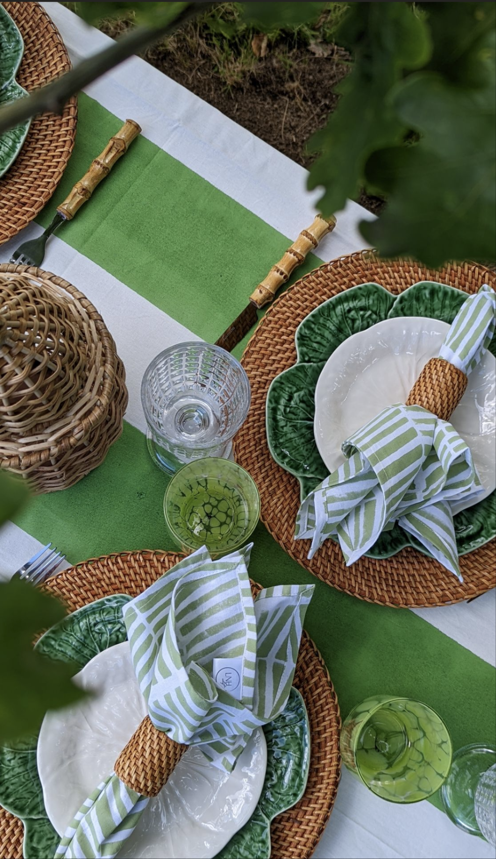
<svg viewBox="0 0 496 859"><path fill-rule="evenodd" d="M70 58L57 27L39 3L3 3L24 40L21 67L15 76L31 91L70 69ZM0 179L0 245L36 217L51 198L76 135L76 96L62 115L41 113L31 123L12 167Z"/></svg>

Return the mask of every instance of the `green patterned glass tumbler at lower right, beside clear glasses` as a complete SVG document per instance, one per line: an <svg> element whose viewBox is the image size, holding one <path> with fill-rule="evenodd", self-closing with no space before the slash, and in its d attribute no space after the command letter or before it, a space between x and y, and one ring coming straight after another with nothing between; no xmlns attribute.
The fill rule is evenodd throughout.
<svg viewBox="0 0 496 859"><path fill-rule="evenodd" d="M440 716L411 698L366 698L342 726L348 770L390 802L419 802L445 782L453 754Z"/></svg>

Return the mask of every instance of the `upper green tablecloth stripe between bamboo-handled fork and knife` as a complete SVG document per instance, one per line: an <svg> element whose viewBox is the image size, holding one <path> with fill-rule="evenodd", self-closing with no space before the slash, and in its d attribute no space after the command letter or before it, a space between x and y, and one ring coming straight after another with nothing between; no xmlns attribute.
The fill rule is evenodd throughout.
<svg viewBox="0 0 496 859"><path fill-rule="evenodd" d="M85 94L78 109L76 146L57 202L122 125ZM48 226L56 205L45 207L39 223ZM285 236L145 137L58 235L209 342L287 249ZM311 254L299 273L320 262Z"/></svg>

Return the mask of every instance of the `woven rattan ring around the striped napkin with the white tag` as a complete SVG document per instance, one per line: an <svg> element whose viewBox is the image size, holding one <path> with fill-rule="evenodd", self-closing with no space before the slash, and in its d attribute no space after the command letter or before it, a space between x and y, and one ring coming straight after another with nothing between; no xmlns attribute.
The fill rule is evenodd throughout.
<svg viewBox="0 0 496 859"><path fill-rule="evenodd" d="M137 794L156 796L188 747L171 740L145 716L119 754L115 774Z"/></svg>

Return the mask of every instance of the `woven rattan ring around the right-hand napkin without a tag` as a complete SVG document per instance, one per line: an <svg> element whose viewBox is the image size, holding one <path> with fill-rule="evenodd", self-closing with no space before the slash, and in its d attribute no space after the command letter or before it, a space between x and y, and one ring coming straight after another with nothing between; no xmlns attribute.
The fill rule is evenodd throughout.
<svg viewBox="0 0 496 859"><path fill-rule="evenodd" d="M462 399L468 381L454 364L444 358L431 358L408 394L406 405L421 405L447 421Z"/></svg>

